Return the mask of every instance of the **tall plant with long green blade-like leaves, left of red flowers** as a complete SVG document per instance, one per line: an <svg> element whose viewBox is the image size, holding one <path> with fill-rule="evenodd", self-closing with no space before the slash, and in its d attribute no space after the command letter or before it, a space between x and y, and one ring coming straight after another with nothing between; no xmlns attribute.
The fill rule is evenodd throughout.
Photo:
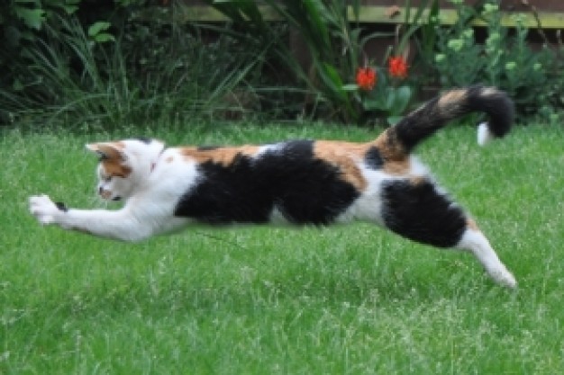
<svg viewBox="0 0 564 375"><path fill-rule="evenodd" d="M336 104L330 106L334 111L333 114L345 117L354 115L348 94L341 89L342 64L338 64L338 61L342 60L342 56L336 53L333 45L335 31L339 35L337 39L342 38L343 35L350 35L347 32L348 22L343 22L347 17L344 1L334 2L332 7L326 6L321 1L278 3L266 0L264 2L270 12L276 13L284 20L286 30L291 30L288 32L296 32L305 40L312 59L311 67L303 66L279 29L272 28L266 22L258 2L208 0L208 3L237 26L237 31L228 27L222 28L221 32L228 33L245 44L267 46L269 59L281 63L296 79L298 85L303 87L307 94L307 102L310 102L313 111L318 108L319 103L332 103ZM345 32L342 32L343 27Z"/></svg>

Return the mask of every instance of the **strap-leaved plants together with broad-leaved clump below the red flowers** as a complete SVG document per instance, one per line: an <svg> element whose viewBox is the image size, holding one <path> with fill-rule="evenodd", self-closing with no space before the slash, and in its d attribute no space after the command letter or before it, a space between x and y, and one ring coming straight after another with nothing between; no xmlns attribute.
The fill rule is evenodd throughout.
<svg viewBox="0 0 564 375"><path fill-rule="evenodd" d="M370 61L364 54L368 40L394 34L366 33L358 21L360 1L293 0L264 2L216 1L208 4L226 15L240 30L237 34L245 43L255 43L268 48L268 60L281 62L292 84L305 92L305 116L329 120L362 122L369 116L378 115L395 121L411 99L412 90L407 85L401 88L388 85L386 69ZM305 42L311 64L304 67L287 45L284 34L273 31L264 20L260 4L267 4L271 13L277 14L287 30L296 32ZM407 2L409 4L409 2ZM423 1L414 17L414 22L401 35L396 46L396 55L405 52L408 40L419 28L418 20L428 1ZM409 9L409 6L408 6ZM411 20L409 12L406 20ZM398 39L399 36L398 36ZM402 56L405 59L405 56ZM387 64L387 58L384 59ZM359 68L368 67L378 71L378 85L374 90L359 91L359 86L350 84ZM387 95L387 98L383 96Z"/></svg>

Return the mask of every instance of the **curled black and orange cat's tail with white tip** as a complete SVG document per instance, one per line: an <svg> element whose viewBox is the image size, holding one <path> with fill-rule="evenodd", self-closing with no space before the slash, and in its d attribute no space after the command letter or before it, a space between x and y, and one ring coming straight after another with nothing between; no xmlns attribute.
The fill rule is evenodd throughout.
<svg viewBox="0 0 564 375"><path fill-rule="evenodd" d="M451 90L409 113L387 129L387 141L398 143L408 154L423 139L444 127L449 121L470 112L486 112L489 121L478 128L478 143L501 138L509 132L514 118L514 105L507 95L494 87L481 85Z"/></svg>

